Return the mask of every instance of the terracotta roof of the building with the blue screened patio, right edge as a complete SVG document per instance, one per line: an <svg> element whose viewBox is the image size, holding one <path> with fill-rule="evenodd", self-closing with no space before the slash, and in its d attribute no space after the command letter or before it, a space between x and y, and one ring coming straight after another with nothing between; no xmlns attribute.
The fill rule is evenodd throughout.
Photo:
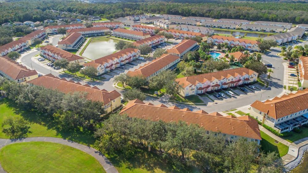
<svg viewBox="0 0 308 173"><path fill-rule="evenodd" d="M250 106L274 119L278 119L308 109L308 88L304 91L298 91L295 94L283 95L281 97L275 97L272 100L266 100L264 103L257 100Z"/></svg>

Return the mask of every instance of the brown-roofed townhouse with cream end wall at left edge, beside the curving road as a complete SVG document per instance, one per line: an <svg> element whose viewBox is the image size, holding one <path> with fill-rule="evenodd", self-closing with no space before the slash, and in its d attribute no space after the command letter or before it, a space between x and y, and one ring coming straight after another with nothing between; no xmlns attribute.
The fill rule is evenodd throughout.
<svg viewBox="0 0 308 173"><path fill-rule="evenodd" d="M35 70L30 70L7 56L0 57L0 74L17 83L25 83L38 77Z"/></svg>

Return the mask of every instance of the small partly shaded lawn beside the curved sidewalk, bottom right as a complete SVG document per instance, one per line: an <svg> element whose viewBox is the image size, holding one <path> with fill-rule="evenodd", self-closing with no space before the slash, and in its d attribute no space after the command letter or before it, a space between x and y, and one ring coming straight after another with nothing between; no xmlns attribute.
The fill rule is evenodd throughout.
<svg viewBox="0 0 308 173"><path fill-rule="evenodd" d="M265 152L272 152L276 151L279 153L280 157L286 155L289 151L289 147L286 146L285 144L281 144L278 142L278 144L275 143L275 140L268 136L266 133L260 131L261 133L261 149Z"/></svg>

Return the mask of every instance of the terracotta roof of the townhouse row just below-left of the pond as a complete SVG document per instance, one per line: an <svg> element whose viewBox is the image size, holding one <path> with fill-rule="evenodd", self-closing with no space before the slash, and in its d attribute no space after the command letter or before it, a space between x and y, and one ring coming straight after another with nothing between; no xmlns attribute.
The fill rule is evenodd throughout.
<svg viewBox="0 0 308 173"><path fill-rule="evenodd" d="M49 52L51 52L55 55L60 56L61 58L65 58L65 59L68 60L68 62L84 59L83 57L74 55L70 52L59 49L59 48L52 46L52 45L43 46L43 47L40 47L39 49L49 51Z"/></svg>

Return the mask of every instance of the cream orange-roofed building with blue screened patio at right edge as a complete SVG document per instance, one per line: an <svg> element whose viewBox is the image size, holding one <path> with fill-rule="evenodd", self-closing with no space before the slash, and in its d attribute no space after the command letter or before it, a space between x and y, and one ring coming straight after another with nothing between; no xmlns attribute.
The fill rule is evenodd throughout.
<svg viewBox="0 0 308 173"><path fill-rule="evenodd" d="M250 116L282 133L308 122L308 88L272 100L255 101Z"/></svg>

